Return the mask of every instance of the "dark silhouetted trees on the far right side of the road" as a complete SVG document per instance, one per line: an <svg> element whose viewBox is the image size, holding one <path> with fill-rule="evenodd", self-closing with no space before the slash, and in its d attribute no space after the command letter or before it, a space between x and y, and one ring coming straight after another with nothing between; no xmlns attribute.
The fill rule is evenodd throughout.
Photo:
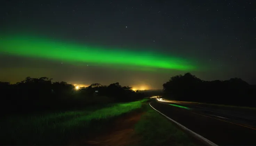
<svg viewBox="0 0 256 146"><path fill-rule="evenodd" d="M240 78L204 81L186 73L171 77L163 84L163 92L177 101L256 107L256 85Z"/></svg>

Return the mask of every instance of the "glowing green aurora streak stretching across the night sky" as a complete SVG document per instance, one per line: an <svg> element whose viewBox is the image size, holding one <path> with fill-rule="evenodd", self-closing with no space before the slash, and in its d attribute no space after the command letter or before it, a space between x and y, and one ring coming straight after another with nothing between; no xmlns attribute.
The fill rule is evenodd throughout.
<svg viewBox="0 0 256 146"><path fill-rule="evenodd" d="M113 65L136 70L177 69L195 70L195 66L181 58L168 57L156 52L135 52L109 49L29 35L0 36L0 53L23 57L37 57L72 63Z"/></svg>

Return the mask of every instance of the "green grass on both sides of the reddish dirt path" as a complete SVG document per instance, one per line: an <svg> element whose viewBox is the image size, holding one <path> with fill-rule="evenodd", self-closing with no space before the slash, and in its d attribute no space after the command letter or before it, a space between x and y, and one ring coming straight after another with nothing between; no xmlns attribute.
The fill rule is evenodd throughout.
<svg viewBox="0 0 256 146"><path fill-rule="evenodd" d="M195 145L187 134L149 106L154 99L88 106L83 110L11 115L0 121L1 145L74 145L108 133L115 119L143 113L135 124L136 145ZM136 138L135 138L136 137Z"/></svg>

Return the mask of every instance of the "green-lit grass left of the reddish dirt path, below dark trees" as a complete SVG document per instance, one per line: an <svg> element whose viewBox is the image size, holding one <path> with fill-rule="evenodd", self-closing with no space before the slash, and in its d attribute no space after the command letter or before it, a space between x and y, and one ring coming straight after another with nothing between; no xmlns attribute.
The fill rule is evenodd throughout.
<svg viewBox="0 0 256 146"><path fill-rule="evenodd" d="M66 145L108 127L107 121L141 108L142 101L110 104L41 116L15 116L0 121L2 145Z"/></svg>

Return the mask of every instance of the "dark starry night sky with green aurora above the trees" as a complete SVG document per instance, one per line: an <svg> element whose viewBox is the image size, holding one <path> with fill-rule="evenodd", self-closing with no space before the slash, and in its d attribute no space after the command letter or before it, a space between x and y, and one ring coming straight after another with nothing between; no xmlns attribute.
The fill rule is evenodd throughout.
<svg viewBox="0 0 256 146"><path fill-rule="evenodd" d="M253 0L4 0L0 5L2 40L19 34L19 38L41 36L67 43L69 51L78 44L84 47L79 47L80 60L74 62L58 54L48 58L46 52L52 53L56 45L35 45L34 52L41 56L17 55L1 45L8 41L2 41L0 80L16 83L27 76L46 76L79 85L119 82L136 89L162 89L170 77L191 72L203 80L239 77L256 84L255 20ZM90 48L99 55L82 59L89 58L84 53L87 45L100 46L99 50ZM111 55L113 49L121 53ZM145 54L151 55L146 58ZM141 66L118 63L129 62L133 56L141 57L134 59L143 62ZM103 58L114 62L105 64ZM162 62L173 63L173 58L195 68L159 68ZM149 64L153 70L141 69Z"/></svg>

